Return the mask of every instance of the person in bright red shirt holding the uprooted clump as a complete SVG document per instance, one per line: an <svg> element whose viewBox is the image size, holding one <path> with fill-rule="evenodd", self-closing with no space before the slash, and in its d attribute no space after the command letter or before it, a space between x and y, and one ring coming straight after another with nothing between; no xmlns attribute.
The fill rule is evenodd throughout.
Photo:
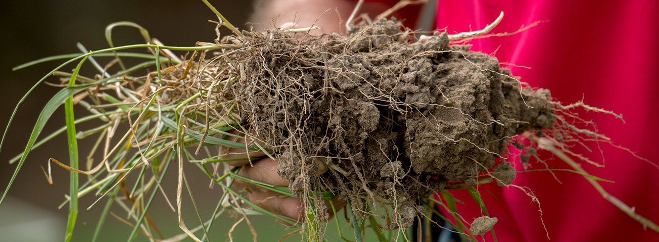
<svg viewBox="0 0 659 242"><path fill-rule="evenodd" d="M345 32L345 19L357 1L331 0L262 0L256 3L250 22L255 28L287 26L304 28L320 26L321 32ZM373 17L392 7L397 1L367 1L361 13ZM552 90L552 96L565 102L585 100L590 106L624 113L627 125L608 115L581 112L585 120L598 124L599 133L612 138L613 143L600 144L602 154L587 148L574 148L606 167L583 165L592 175L611 179L615 184L602 184L609 193L621 198L636 212L656 221L659 208L659 182L653 177L659 169L652 162L659 160L659 127L654 120L659 100L659 83L654 81L652 67L659 65L659 13L656 1L443 1L438 2L436 28L449 34L480 30L492 22L500 11L506 13L493 32L513 33L521 25L542 20L538 26L519 34L473 40L472 51L482 51L511 63L507 68L513 75L522 76L531 86ZM329 11L328 11L329 9ZM407 6L393 14L403 24L415 28L420 6ZM292 21L292 23L287 23ZM514 65L513 65L514 64ZM522 66L523 65L523 66ZM531 67L532 69L528 69ZM241 139L244 140L244 139ZM236 150L235 152L244 152ZM251 157L263 154L250 153ZM517 157L511 154L513 166L523 170ZM645 162L635 155L647 158ZM234 155L235 156L235 155ZM539 152L552 169L569 168L551 154ZM227 158L238 158L229 157ZM606 162L605 159L606 158ZM553 159L553 160L552 160ZM251 166L250 166L251 163ZM277 175L277 161L261 160L231 162L243 166L240 174L256 181L287 186L289 181ZM530 169L546 169L531 162ZM478 187L490 216L498 218L494 227L499 241L659 241L659 234L644 231L643 226L602 199L583 177L573 173L521 173L513 182L529 187L540 201L519 189L498 187L496 183ZM235 187L244 187L237 183ZM283 197L258 187L244 187L249 199L275 214L302 219L302 201ZM466 191L455 191L460 200L471 201ZM651 202L652 201L652 202ZM465 202L458 209L467 221L482 216L478 204ZM342 205L341 205L342 206ZM538 212L542 210L542 212ZM486 241L494 241L487 233ZM434 239L433 241L436 241Z"/></svg>

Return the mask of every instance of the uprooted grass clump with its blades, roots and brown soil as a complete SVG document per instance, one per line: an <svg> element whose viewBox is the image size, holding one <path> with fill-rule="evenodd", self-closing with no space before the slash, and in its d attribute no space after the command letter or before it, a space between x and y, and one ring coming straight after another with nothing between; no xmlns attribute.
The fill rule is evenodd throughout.
<svg viewBox="0 0 659 242"><path fill-rule="evenodd" d="M572 125L571 121L579 117L571 109L583 107L621 117L582 103L565 106L554 100L549 90L520 82L500 67L496 58L469 51L471 45L456 44L492 30L503 13L483 31L456 35L434 32L416 38L413 30L397 20L379 18L351 26L345 36L312 36L308 32L313 27L241 32L208 5L220 18L218 28L231 29L231 36L218 36L215 43L198 43L196 47L169 47L152 40L137 24L121 22L107 28L111 47L111 30L120 25L140 28L148 44L85 50L65 63L80 61L73 73L54 70L45 76L68 77L67 88L43 109L26 151L15 159L20 160L16 173L33 148L57 135L36 142L45 121L65 102L67 127L58 132L69 135L71 164L55 159L51 162L72 171L69 238L77 198L94 190L102 195L98 200L115 197L121 190L140 208L127 210L137 214L129 241L138 232L154 237L150 231L156 225L148 217L148 209L172 163L178 163L175 210L179 212L179 226L183 237L196 241L203 241L205 235L199 239L202 233L195 232L208 231L224 208L234 209L244 218L252 214L273 216L300 227L309 241L322 241L329 212L337 210L331 200L349 204L347 217L357 240L363 222L369 220L380 241L391 241L380 229L411 227L416 218L437 212L433 202L455 211L455 201L445 190L473 190L471 187L490 182L511 186L517 171L505 161L509 144L521 150L525 164L537 149L550 150L606 194L598 187L598 178L588 175L566 153L588 162L570 153L569 145L582 140L610 140ZM125 67L121 57L144 57L116 52L132 48L148 49L153 55L147 58L152 60ZM172 50L192 52L177 56ZM121 65L122 71L107 73L94 60L101 55L115 56L106 67ZM94 63L101 75L78 75L85 61ZM153 66L156 71L148 75L130 75ZM74 119L74 104L86 107L92 115ZM76 133L75 124L88 119L101 119L106 124ZM116 133L119 125L127 125L129 131ZM103 152L103 159L96 167L92 166L96 162L88 160L86 169L80 169L77 140L95 133L100 135L89 157ZM518 139L513 141L515 137ZM211 151L217 146L225 148ZM277 173L290 182L289 187L242 177L237 173L239 167L224 166L224 173L221 171L222 162L236 160L225 156L247 150L262 156L243 160L266 156L277 160ZM198 158L199 154L207 156ZM185 160L197 164L224 191L221 210L218 206L213 219L196 229L188 229L181 216L183 185L187 185L182 166ZM89 175L88 181L79 185L78 173ZM146 182L127 185L123 181L128 176ZM306 218L285 218L256 206L244 197L249 193L229 189L233 179L302 198ZM436 193L441 193L444 201L430 198ZM473 197L480 200L477 193ZM610 195L604 197L614 204L617 201L616 206L644 226L659 231L629 206ZM174 207L173 202L167 202ZM371 211L380 208L386 212L376 220ZM486 212L484 204L482 208ZM470 230L466 226L469 222L451 215L456 218L453 227L471 239L476 239L474 234L490 231L496 223L496 214L486 214L492 219L479 218L486 221L484 225Z"/></svg>

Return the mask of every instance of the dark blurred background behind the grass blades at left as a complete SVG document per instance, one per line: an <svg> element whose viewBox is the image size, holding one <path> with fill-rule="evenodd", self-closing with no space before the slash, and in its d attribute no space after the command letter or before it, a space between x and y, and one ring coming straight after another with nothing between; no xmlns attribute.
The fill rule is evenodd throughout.
<svg viewBox="0 0 659 242"><path fill-rule="evenodd" d="M248 16L252 12L252 1L210 1L232 24L244 28ZM84 44L87 49L104 49L109 47L105 41L105 26L117 21L132 21L146 28L152 38L158 38L165 45L194 46L195 42L213 42L215 24L208 20L217 17L202 1L175 0L62 0L62 1L0 1L0 126L4 131L14 107L22 96L43 75L60 65L63 61L42 63L26 69L12 71L12 67L52 55L80 53L76 42ZM229 34L222 29L221 33ZM143 39L134 28L118 27L113 32L115 45L143 44ZM146 53L145 49L140 49ZM181 54L181 53L179 53ZM101 61L107 63L107 59ZM70 65L63 71L71 71ZM84 65L88 76L94 75L92 65ZM49 77L48 82L59 83L57 77ZM5 144L0 151L0 189L5 191L16 164L8 164L8 160L19 154L25 147L32 132L37 117L46 102L60 88L42 84L23 102L7 133ZM84 109L76 109L76 117L88 115ZM78 125L79 131L90 129L98 123L90 122ZM48 121L40 136L43 138L56 129L65 126L63 107L58 109ZM78 143L80 164L84 167L84 157L92 147L96 136L89 137ZM0 241L62 241L64 238L68 205L61 210L57 206L64 201L64 195L69 193L69 173L60 167L53 167L55 183L48 185L42 168L47 167L48 158L57 158L68 164L66 135L60 135L44 146L37 148L28 156L22 166L9 198L0 206ZM187 165L186 165L187 166ZM200 214L204 220L210 218L221 189L208 188L208 177L192 166L186 169L188 180L192 186L193 195L198 202ZM172 167L170 167L172 168ZM163 185L171 202L175 203L176 173L171 171L169 179ZM167 177L166 177L167 178ZM86 176L80 175L80 184L86 181ZM129 183L132 187L133 183ZM186 192L184 191L184 194ZM186 197L186 196L184 196ZM187 199L187 200L185 200ZM183 203L190 204L189 198ZM98 216L107 199L101 200L92 210L86 210L96 197L92 194L80 198L80 212L74 231L74 241L89 241L98 222ZM115 203L113 211L125 218L125 212ZM161 195L156 198L150 215L159 225L165 237L181 233L177 227L177 215L172 212ZM184 209L184 218L188 227L199 224L194 215L194 209L188 206ZM257 229L274 231L271 236L281 236L293 230L285 229L275 220L258 217L255 222ZM223 216L214 228L212 239L225 241L226 233L235 222L235 218ZM253 221L254 222L254 221ZM260 226L260 227L258 227ZM121 224L117 219L108 216L105 227L101 231L100 241L125 241L131 228ZM13 234L13 235L11 235ZM241 224L234 232L236 241L251 240L246 226ZM14 236L14 237L11 237ZM261 237L270 241L267 234ZM298 241L291 237L291 241ZM276 239L275 239L276 240ZM136 241L146 241L142 235ZM186 239L186 241L191 241Z"/></svg>

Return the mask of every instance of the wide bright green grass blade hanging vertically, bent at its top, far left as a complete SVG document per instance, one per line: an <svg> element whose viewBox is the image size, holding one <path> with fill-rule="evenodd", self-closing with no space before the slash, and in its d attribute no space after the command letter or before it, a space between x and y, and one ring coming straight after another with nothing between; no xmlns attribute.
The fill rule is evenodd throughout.
<svg viewBox="0 0 659 242"><path fill-rule="evenodd" d="M82 58L78 67L73 71L73 75L69 80L69 88L72 88L76 82L78 71L82 67L82 63L87 60L87 56ZM65 116L67 119L67 137L69 138L69 160L71 160L71 168L78 169L78 139L76 138L76 125L75 117L73 115L73 96L67 98L65 104ZM71 191L69 193L69 223L67 224L67 235L65 241L71 241L73 235L73 228L76 226L76 218L78 217L78 173L71 171Z"/></svg>

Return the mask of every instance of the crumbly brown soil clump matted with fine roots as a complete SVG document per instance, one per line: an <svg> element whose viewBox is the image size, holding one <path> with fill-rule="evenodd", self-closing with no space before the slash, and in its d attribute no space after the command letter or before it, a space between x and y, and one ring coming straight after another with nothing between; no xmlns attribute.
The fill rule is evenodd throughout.
<svg viewBox="0 0 659 242"><path fill-rule="evenodd" d="M509 137L556 123L548 90L521 88L496 58L449 45L446 32L411 44L399 22L378 20L348 36L243 34L241 77L224 98L277 151L295 195L331 189L355 208L360 198L402 206L449 181L475 183ZM508 185L515 170L494 174Z"/></svg>

